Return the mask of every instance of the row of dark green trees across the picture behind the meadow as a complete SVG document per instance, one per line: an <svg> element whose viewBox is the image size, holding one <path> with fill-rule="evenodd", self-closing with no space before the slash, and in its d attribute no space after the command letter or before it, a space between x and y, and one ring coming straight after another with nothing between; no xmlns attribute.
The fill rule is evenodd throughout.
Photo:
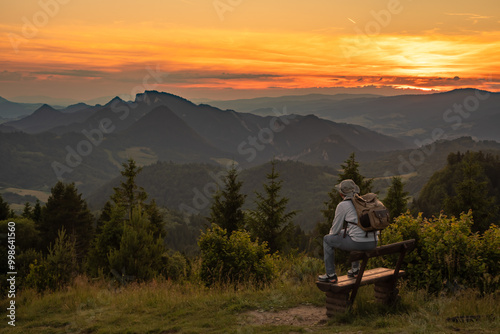
<svg viewBox="0 0 500 334"><path fill-rule="evenodd" d="M315 242L328 233L341 201L332 185L324 202L323 222L305 233L294 224L297 211L288 209L289 198L281 194L283 181L276 166L275 161L270 163L262 190L255 191L253 209L243 209L247 195L241 192L243 182L233 166L224 176L224 186L213 195L209 216L186 217L148 200L136 182L142 168L129 159L123 164L119 186L113 188L98 217L92 215L75 184L58 182L45 205L27 203L20 216L0 196L0 228L3 231L9 219L15 218L22 235L17 243L21 284L40 291L67 284L77 274L113 278L123 284L189 277L193 256L167 247L183 238L189 240L189 255L202 258L201 276L206 283L220 280L221 275L229 281L240 280L241 263L265 281L272 276L269 255L312 254L317 249ZM448 165L434 174L418 200L409 203L402 178L395 176L382 201L393 219L409 212L460 215L472 210L472 230L483 232L498 222L499 175L497 156L452 153ZM361 193L372 191L373 179L360 174L354 153L341 165L338 182L344 179L354 180ZM176 247L183 246L181 242ZM221 261L221 254L229 258ZM220 267L221 263L232 265Z"/></svg>

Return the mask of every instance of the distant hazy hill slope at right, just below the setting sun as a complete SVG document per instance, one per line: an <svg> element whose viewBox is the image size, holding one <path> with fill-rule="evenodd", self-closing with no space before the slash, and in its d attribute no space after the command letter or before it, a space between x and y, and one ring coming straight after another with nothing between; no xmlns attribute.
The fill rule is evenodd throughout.
<svg viewBox="0 0 500 334"><path fill-rule="evenodd" d="M286 107L290 113L362 125L408 142L432 139L435 129L442 129L449 138L474 136L500 141L500 132L489 126L498 124L500 93L475 89L390 97L353 95L337 100L322 97L303 101L290 96L212 103L260 115L272 115L273 108Z"/></svg>

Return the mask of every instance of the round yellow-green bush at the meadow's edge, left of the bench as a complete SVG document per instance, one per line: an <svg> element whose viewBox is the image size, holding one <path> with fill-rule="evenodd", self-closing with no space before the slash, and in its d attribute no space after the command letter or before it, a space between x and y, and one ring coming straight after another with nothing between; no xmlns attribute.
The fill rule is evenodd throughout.
<svg viewBox="0 0 500 334"><path fill-rule="evenodd" d="M201 250L200 276L206 285L270 282L274 277L273 262L267 244L250 239L246 231L227 231L217 224L198 239Z"/></svg>

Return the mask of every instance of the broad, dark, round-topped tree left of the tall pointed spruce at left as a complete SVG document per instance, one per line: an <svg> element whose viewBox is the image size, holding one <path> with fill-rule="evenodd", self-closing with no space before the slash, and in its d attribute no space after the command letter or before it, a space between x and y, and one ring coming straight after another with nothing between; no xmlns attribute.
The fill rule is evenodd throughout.
<svg viewBox="0 0 500 334"><path fill-rule="evenodd" d="M81 261L94 234L93 223L94 217L82 195L78 194L75 184L64 184L59 181L52 188L38 223L42 249L46 250L50 243L54 243L58 231L64 228L75 243L77 258Z"/></svg>

